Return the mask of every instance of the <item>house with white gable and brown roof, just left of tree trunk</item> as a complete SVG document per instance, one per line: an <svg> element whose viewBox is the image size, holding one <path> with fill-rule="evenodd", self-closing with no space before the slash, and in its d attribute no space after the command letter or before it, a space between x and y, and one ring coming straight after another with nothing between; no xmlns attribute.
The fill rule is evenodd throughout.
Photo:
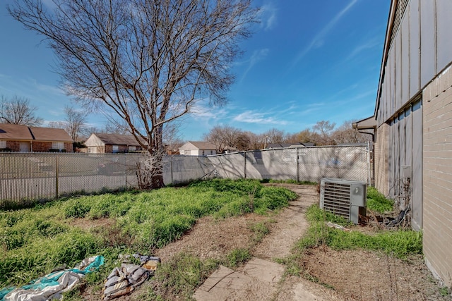
<svg viewBox="0 0 452 301"><path fill-rule="evenodd" d="M125 153L142 151L133 135L93 133L85 141L89 154ZM145 145L145 142L143 142Z"/></svg>

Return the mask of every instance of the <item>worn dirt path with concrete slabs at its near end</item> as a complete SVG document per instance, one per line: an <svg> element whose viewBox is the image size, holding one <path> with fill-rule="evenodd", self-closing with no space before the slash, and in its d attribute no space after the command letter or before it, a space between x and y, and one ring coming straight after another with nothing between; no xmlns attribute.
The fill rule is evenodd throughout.
<svg viewBox="0 0 452 301"><path fill-rule="evenodd" d="M274 262L290 255L307 230L307 208L319 199L314 186L283 186L299 197L274 217L270 233L254 247L253 258L236 271L220 267L196 290L196 300L337 300L321 285L302 278L285 278L285 267Z"/></svg>

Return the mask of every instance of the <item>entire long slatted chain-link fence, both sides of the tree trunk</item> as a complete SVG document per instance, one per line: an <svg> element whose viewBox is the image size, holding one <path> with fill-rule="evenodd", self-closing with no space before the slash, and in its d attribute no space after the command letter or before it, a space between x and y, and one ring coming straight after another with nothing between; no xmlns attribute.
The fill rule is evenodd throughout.
<svg viewBox="0 0 452 301"><path fill-rule="evenodd" d="M371 183L370 145L265 149L215 156L165 156L165 185L202 178ZM142 154L0 153L0 209L66 194L138 187Z"/></svg>

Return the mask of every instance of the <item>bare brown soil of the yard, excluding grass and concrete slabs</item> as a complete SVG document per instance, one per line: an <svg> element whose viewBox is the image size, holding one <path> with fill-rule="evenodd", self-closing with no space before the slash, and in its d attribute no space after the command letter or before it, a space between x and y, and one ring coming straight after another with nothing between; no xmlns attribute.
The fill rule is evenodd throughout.
<svg viewBox="0 0 452 301"><path fill-rule="evenodd" d="M299 197L278 214L247 214L223 220L205 217L199 219L180 240L157 250L153 255L160 257L162 262L179 252L191 252L201 259L220 258L236 248L251 247L251 254L257 259L272 261L289 257L295 242L307 230L304 213L311 204L319 202L319 193L315 186L279 185L297 192ZM250 226L258 222L265 222L270 233L260 242L253 242L250 238L254 233ZM369 228L356 226L353 230L369 231ZM338 252L319 247L308 250L299 264L303 267L304 277L285 276L276 293L269 296L264 290L261 293L255 291L252 299L452 300L450 296L441 296L439 285L422 262L422 257L403 261L376 252ZM153 281L146 281L131 295L118 300L138 300L143 290L152 287ZM174 295L163 297L166 300L180 300Z"/></svg>

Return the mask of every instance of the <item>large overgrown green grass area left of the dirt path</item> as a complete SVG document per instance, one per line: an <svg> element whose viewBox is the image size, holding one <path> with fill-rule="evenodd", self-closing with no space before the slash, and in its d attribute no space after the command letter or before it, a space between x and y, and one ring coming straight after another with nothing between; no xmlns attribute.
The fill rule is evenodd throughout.
<svg viewBox="0 0 452 301"><path fill-rule="evenodd" d="M208 180L186 188L69 197L0 212L0 287L23 285L94 254L104 255L106 262L114 262L119 252L148 254L181 237L201 216L265 214L295 198L294 192L263 187L257 180ZM75 226L80 220L82 226ZM86 226L90 223L100 226ZM256 233L265 232L256 227ZM227 262L233 266L246 258L237 250ZM101 269L102 278L110 270Z"/></svg>

